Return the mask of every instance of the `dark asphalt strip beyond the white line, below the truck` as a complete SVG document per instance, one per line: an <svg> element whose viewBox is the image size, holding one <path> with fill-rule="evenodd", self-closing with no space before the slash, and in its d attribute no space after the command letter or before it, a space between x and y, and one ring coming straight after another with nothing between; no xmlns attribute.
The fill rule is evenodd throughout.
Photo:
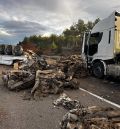
<svg viewBox="0 0 120 129"><path fill-rule="evenodd" d="M81 88L120 105L120 80L88 77L79 81Z"/></svg>

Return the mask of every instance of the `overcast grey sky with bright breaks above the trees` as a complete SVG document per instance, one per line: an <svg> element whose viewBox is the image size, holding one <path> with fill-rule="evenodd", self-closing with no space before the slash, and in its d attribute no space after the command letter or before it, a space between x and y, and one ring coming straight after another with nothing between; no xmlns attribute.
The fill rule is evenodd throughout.
<svg viewBox="0 0 120 129"><path fill-rule="evenodd" d="M0 43L60 34L78 19L102 19L114 10L120 11L120 0L0 0Z"/></svg>

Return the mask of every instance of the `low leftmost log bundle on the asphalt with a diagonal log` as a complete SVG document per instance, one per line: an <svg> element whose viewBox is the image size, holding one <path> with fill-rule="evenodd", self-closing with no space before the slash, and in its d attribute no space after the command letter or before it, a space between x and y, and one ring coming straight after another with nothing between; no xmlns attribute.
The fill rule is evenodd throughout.
<svg viewBox="0 0 120 129"><path fill-rule="evenodd" d="M4 85L9 90L22 90L33 87L35 75L24 70L12 70L7 73L3 72Z"/></svg>

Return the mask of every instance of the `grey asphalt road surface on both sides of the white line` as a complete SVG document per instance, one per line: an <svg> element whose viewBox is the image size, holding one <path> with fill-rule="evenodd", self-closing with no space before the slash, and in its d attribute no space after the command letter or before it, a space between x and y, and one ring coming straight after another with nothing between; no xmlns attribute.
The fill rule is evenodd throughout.
<svg viewBox="0 0 120 129"><path fill-rule="evenodd" d="M81 88L120 104L119 83L93 77L79 81ZM66 90L65 93L85 107L114 107L81 90ZM67 112L52 104L59 95L28 101L22 99L23 94L24 91L9 91L0 80L0 129L59 129L59 123Z"/></svg>

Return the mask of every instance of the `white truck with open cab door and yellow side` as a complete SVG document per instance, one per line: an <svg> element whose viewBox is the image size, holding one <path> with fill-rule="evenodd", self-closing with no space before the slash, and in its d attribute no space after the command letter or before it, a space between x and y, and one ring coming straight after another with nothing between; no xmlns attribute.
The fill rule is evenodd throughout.
<svg viewBox="0 0 120 129"><path fill-rule="evenodd" d="M120 77L120 13L114 11L84 33L82 58L97 78Z"/></svg>

